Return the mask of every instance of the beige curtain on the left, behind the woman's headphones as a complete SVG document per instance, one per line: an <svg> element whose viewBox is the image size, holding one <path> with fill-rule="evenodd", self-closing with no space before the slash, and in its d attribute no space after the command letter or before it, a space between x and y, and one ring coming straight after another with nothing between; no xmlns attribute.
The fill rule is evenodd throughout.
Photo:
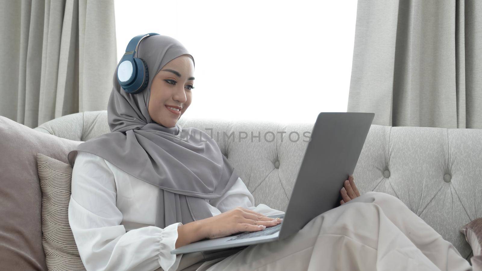
<svg viewBox="0 0 482 271"><path fill-rule="evenodd" d="M0 0L0 115L30 128L105 110L117 65L114 0Z"/></svg>

